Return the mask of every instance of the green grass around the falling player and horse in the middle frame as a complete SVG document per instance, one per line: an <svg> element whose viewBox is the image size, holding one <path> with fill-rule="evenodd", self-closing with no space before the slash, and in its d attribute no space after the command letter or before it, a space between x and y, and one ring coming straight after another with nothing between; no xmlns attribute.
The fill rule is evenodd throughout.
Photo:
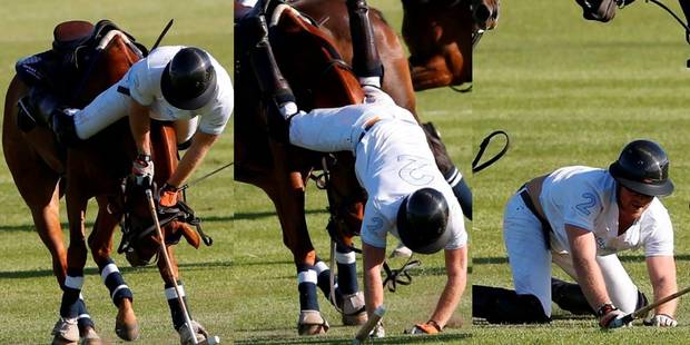
<svg viewBox="0 0 690 345"><path fill-rule="evenodd" d="M369 1L381 9L388 22L400 31L402 7L397 1ZM472 130L470 128L470 103L466 95L450 89L417 93L417 110L423 120L432 120L440 129L445 142L450 145L451 156L461 162L467 175L471 154ZM328 235L325 194L310 184L307 187L307 224L310 237L321 257L327 259ZM325 336L305 338L297 336L299 304L297 277L293 256L283 245L278 219L273 204L258 188L238 184L235 189L236 209L234 223L233 319L235 338L240 344L254 343L346 343L357 327L342 326L339 315L328 302L319 296L319 305L331 331ZM470 224L467 224L470 226ZM390 239L390 247L395 241ZM356 246L359 246L358 240ZM385 339L388 344L422 342L418 337L403 335L403 329L414 323L425 322L445 284L443 256L420 257L422 269L414 273L411 286L403 286L396 293L386 293ZM359 259L359 256L358 256ZM393 267L402 265L394 262ZM358 262L361 267L361 260ZM362 277L359 276L362 286ZM463 298L453 324L444 336L435 338L453 341L467 337L466 324L470 321L469 298ZM460 328L460 323L463 327ZM428 341L428 339L426 339Z"/></svg>

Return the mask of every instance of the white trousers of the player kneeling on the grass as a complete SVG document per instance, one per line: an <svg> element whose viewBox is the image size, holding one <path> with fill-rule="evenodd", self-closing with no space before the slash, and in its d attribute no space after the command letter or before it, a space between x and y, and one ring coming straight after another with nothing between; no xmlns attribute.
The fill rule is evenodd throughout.
<svg viewBox="0 0 690 345"><path fill-rule="evenodd" d="M514 195L505 206L503 239L513 273L515 292L531 294L541 302L551 317L551 263L555 263L576 282L570 254L546 249L544 233L539 219L525 206L520 195ZM623 313L632 313L638 303L638 287L615 255L597 256L607 292L613 305Z"/></svg>

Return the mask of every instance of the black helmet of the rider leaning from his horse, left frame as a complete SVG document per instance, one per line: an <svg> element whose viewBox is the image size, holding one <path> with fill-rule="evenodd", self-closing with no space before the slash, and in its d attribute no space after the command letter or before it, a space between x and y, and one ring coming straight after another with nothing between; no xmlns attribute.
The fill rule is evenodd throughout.
<svg viewBox="0 0 690 345"><path fill-rule="evenodd" d="M162 97L172 106L196 110L208 103L216 90L216 70L201 49L180 49L160 78Z"/></svg>

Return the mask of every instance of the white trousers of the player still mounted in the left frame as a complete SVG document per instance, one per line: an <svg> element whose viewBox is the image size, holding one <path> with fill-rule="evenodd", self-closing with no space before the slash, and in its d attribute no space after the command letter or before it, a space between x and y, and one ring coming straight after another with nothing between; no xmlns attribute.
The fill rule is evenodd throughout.
<svg viewBox="0 0 690 345"><path fill-rule="evenodd" d="M117 90L120 82L98 95L93 101L73 115L75 129L80 139L88 139L129 115L129 108L134 100ZM194 136L198 127L198 119L195 117L190 120L175 121L174 127L178 144L185 142Z"/></svg>

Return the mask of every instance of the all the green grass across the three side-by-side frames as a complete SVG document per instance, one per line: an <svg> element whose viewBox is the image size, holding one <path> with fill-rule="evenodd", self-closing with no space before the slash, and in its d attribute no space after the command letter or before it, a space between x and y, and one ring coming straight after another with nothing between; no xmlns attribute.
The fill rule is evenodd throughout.
<svg viewBox="0 0 690 345"><path fill-rule="evenodd" d="M400 30L397 1L369 3L381 9ZM690 91L686 59L690 49L682 32L655 7L638 1L619 11L608 24L581 19L574 1L503 1L499 28L475 50L471 95L448 89L417 93L417 110L432 120L448 145L451 156L470 175L472 145L494 129L512 138L509 155L496 166L471 178L475 195L471 230L473 257L470 284L511 286L501 239L503 205L524 181L564 165L605 167L622 146L634 138L660 141L671 158L677 191L664 199L676 227L679 287L690 285L690 219L683 171L690 139L683 102ZM677 3L672 3L678 8ZM68 19L108 18L152 45L169 18L176 23L164 45L194 45L208 49L224 66L233 65L233 26L229 1L120 1L100 4L70 1L69 8L51 1L3 2L0 8L0 86L6 88L14 61L49 48L56 23ZM233 126L226 129L196 176L233 160ZM4 165L0 167L0 344L46 344L58 317L60 290L52 277L50 257L40 243ZM177 254L191 312L224 342L240 344L346 343L356 327L342 326L326 299L319 304L332 328L325 336L298 337L297 279L292 254L283 245L272 203L258 188L233 180L231 169L189 190L189 203L205 220L213 247L194 250L183 245ZM92 220L93 205L88 219ZM307 223L317 252L328 257L325 231L326 198L308 186ZM119 240L119 235L116 240ZM549 326L471 325L469 290L443 335L403 335L425 321L445 282L438 255L420 257L414 283L386 293L387 338L376 343L683 343L689 335L690 309L681 303L680 327L634 327L600 332L593 318L570 318L558 308ZM141 344L175 344L162 283L154 268L128 268L115 256L135 292L141 325ZM641 253L627 253L623 262L635 283L651 294ZM361 264L361 262L358 263ZM400 266L401 262L393 262ZM359 265L361 266L361 265ZM87 264L85 296L99 333L118 343L116 308L100 283L96 266ZM563 275L554 269L559 276ZM470 285L469 284L469 285Z"/></svg>

